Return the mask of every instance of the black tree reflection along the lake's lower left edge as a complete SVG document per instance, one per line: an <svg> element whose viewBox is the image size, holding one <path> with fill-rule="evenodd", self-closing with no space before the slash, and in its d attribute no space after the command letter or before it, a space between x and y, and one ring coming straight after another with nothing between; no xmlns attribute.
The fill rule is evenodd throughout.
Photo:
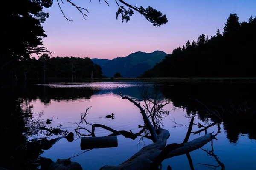
<svg viewBox="0 0 256 170"><path fill-rule="evenodd" d="M26 133L25 125L27 119L31 119L23 118L24 113L15 93L1 92L1 96L1 108L9 107L4 119L0 119L0 136L3 146L0 166L12 170L36 169L42 150L37 142L28 140L30 133Z"/></svg>

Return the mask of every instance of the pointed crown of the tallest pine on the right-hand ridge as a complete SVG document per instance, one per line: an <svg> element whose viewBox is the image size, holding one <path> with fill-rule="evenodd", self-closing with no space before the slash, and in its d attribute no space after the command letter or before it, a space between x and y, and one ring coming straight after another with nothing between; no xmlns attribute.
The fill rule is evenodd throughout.
<svg viewBox="0 0 256 170"><path fill-rule="evenodd" d="M223 28L223 34L226 34L230 32L231 34L236 32L240 27L239 23L239 17L237 14L230 14L230 16L227 18L227 23L225 23L225 26Z"/></svg>

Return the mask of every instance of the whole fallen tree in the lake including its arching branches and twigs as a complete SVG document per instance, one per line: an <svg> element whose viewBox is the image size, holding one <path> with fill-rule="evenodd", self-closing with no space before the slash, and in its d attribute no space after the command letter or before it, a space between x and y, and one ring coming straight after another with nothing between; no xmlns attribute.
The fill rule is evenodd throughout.
<svg viewBox="0 0 256 170"><path fill-rule="evenodd" d="M170 136L169 131L162 129L159 126L154 126L154 123L153 123L153 125L151 124L151 121L152 121L152 119L154 119L154 116L157 116L157 114L158 114L157 111L161 111L161 113L164 112L163 106L165 104L157 102L157 98L155 98L155 100L152 100L153 102L149 101L149 99L145 99L146 102L151 102L150 104L152 104L152 106L150 108L153 108L153 109L149 109L147 104L145 104L144 108L143 108L140 105L140 103L135 102L133 99L131 99L128 96L125 96L120 91L119 91L119 95L122 97L122 99L126 99L126 100L132 102L140 110L140 113L144 120L143 128L145 128L145 130L148 130L148 132L149 132L147 136L143 136L143 137L147 137L148 139L151 139L153 144L143 147L138 153L136 153L134 156L132 156L130 159L123 162L119 166L104 166L101 168L102 170L109 170L109 169L111 169L111 170L113 170L113 169L153 170L153 169L158 169L158 167L161 166L161 163L164 159L192 152L193 150L196 150L196 149L204 146L208 142L210 142L217 135L217 134L212 135L211 133L207 133L204 136L201 136L197 139L194 139L194 140L188 142L189 136L191 134L192 126L193 126L193 120L194 120L194 117L192 117L192 120L189 125L189 130L188 130L188 133L187 133L184 141L180 144L169 144L166 146L166 140ZM146 96L146 95L144 95L144 96ZM148 107L148 110L147 110L147 107ZM148 115L146 113L147 111L148 111ZM153 113L155 115L153 115ZM150 121L150 119L151 119L151 121ZM83 120L83 116L81 117L81 121L82 120ZM78 127L81 127L81 123L79 123L77 125L78 125ZM95 135L95 127L101 127L106 130L109 130L113 133L112 134L113 136L123 135L123 136L129 137L131 139L135 139L137 136L141 137L141 135L138 135L138 133L133 133L131 130L130 130L130 132L125 131L125 130L117 131L117 130L114 130L105 125L93 124L91 131L86 129L86 131L89 132L92 137L82 137L81 146L83 145L82 141L84 141L86 139L90 139L90 141L92 141L93 139L97 140L97 137L95 137L96 136ZM140 132L143 133L143 131L144 130L141 130ZM103 143L100 143L99 146L96 146L95 143L92 143L93 146L94 147L102 147L102 145L104 145L105 143L109 143L109 141L107 141L107 138L103 138L103 139L105 139L106 141L105 142L102 141ZM102 137L100 137L100 140L102 140ZM111 140L113 140L113 139L111 139Z"/></svg>

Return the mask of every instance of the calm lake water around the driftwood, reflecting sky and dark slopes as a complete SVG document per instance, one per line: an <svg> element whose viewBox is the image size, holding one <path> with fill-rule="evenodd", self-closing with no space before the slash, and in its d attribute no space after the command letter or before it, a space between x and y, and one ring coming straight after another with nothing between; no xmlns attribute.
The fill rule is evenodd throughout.
<svg viewBox="0 0 256 170"><path fill-rule="evenodd" d="M90 124L102 124L115 130L131 130L133 133L141 129L143 118L140 110L128 100L123 100L118 93L117 87L126 96L131 97L143 104L143 98L139 93L138 85L147 87L149 91L154 90L154 82L82 82L82 83L50 83L50 84L27 84L12 88L9 99L19 101L21 110L33 113L32 117L25 116L25 127L32 127L33 132L26 136L29 141L46 137L44 130L38 127L58 128L73 132L75 140L68 142L60 139L48 150L43 150L42 157L67 159L84 152L81 150L81 139L76 136L75 129L81 121L81 113L88 110L86 121ZM158 83L160 84L160 100L170 103L164 107L169 115L163 117L161 127L169 130L170 137L167 144L183 142L190 119L188 116L195 114L195 124L204 126L215 125L207 129L207 133L214 132L218 140L213 140L214 154L224 164L227 170L255 170L256 169L256 111L254 84L184 84L184 83ZM17 90L18 89L18 90ZM211 110L218 110L220 119L215 115L209 115L204 104ZM6 103L2 99L2 104ZM231 107L232 106L232 107ZM243 114L236 111L246 108ZM223 111L223 112L221 112ZM105 116L114 113L114 119ZM256 113L255 113L256 114ZM26 114L27 115L27 114ZM51 119L51 124L46 120ZM218 128L221 128L219 130ZM91 125L81 124L82 127L91 130ZM178 127L174 127L178 126ZM201 130L194 125L192 132ZM87 131L81 131L89 134ZM24 133L23 133L24 134ZM96 127L96 136L107 136L111 134L108 130ZM204 131L191 134L189 141L204 135ZM47 136L47 140L60 137L61 135ZM137 153L145 144L152 141L139 137L132 140L124 136L117 136L118 147L98 148L82 153L71 159L81 164L84 170L98 170L104 165L119 165ZM11 140L11 139L9 139ZM140 141L139 141L140 140ZM144 142L144 143L143 143ZM18 144L17 144L18 145ZM211 142L204 145L202 149L211 150ZM196 170L208 170L211 164L218 166L214 157L208 156L204 150L198 149L190 153L193 166ZM186 155L176 156L163 161L163 170L170 165L173 170L189 170L189 161ZM215 168L215 167L213 167ZM217 167L220 170L221 167Z"/></svg>

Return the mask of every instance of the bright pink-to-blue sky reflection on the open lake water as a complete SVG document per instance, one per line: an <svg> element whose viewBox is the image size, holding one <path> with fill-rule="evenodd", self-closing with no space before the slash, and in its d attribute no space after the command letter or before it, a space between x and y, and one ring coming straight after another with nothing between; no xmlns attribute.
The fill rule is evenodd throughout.
<svg viewBox="0 0 256 170"><path fill-rule="evenodd" d="M125 83L127 85L125 85ZM56 88L56 91L59 89L58 86L67 86L73 85L70 83L58 83L51 84L49 87ZM74 129L77 127L75 122L80 122L81 113L85 112L86 107L90 107L87 122L89 123L98 123L106 125L115 130L131 130L134 133L140 131L138 125L143 125L143 119L140 114L139 109L127 100L121 99L118 95L117 86L122 88L122 92L128 94L129 96L135 96L137 101L141 101L139 97L137 83L129 82L110 82L110 83L75 83L78 88L80 85L87 87L100 88L95 89L93 95L88 98L79 98L76 100L73 99L60 99L60 100L51 100L49 104L44 105L41 100L36 99L32 102L29 102L29 105L33 105L32 112L35 114L40 114L44 112L41 116L41 119L52 119L51 127L57 127L59 124L63 125L63 130L68 130L69 132L74 132ZM148 83L148 86L153 84ZM43 86L42 86L43 87ZM54 89L53 88L53 89ZM65 87L67 88L67 87ZM72 87L74 88L74 87ZM180 143L183 142L184 137L186 136L186 127L177 127L172 128L174 123L170 119L176 120L180 124L188 125L190 119L185 118L183 115L186 114L186 110L176 109L175 112L172 111L174 106L171 104L166 105L165 109L171 111L169 116L163 119L163 124L165 129L169 130L170 137L167 141L168 144L171 143ZM107 119L105 115L114 113L115 119ZM194 123L202 123L198 119L195 119ZM91 130L90 125L82 125L87 129ZM198 127L194 126L192 131L199 130ZM217 132L217 125L210 127L207 132ZM229 140L224 133L225 130L221 125L222 133L219 133L217 136L217 141L214 140L214 150L215 154L220 157L220 160L225 164L226 169L240 170L240 169L256 169L254 164L255 152L256 152L256 143L255 140L248 139L247 136L241 136L239 142L236 145L230 144ZM87 134L86 132L84 132ZM102 128L96 127L95 131L96 136L106 136L110 134L109 131ZM204 132L197 135L191 135L189 141L199 136L203 136ZM37 138L42 136L35 136ZM53 138L53 137L52 137ZM77 136L75 135L75 139ZM72 159L72 161L77 161L81 164L84 169L97 170L104 165L118 165L123 161L129 159L134 153L137 153L143 146L138 144L139 139L131 140L123 136L118 136L118 147L115 148L103 148L103 149L94 149L87 153L84 153L80 156L77 156ZM151 141L145 139L145 145L151 144ZM210 143L206 144L203 148L210 150ZM49 150L45 150L42 154L43 157L51 158L53 161L56 161L58 158L68 158L70 156L76 155L83 152L80 149L80 139L74 140L73 142L67 142L66 139L61 139L55 145L52 146ZM202 150L195 150L191 154L194 167L197 170L208 170L205 166L196 165L197 163L203 164L216 164L216 161ZM163 169L166 169L167 165L170 164L173 170L186 170L189 169L189 163L185 155L173 157L163 161Z"/></svg>

